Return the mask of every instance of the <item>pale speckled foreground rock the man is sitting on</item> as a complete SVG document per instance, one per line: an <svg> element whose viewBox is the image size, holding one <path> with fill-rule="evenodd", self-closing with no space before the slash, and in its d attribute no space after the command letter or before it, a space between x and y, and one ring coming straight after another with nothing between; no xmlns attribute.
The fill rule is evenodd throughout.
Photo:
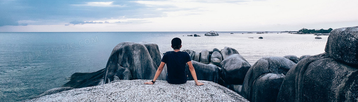
<svg viewBox="0 0 358 102"><path fill-rule="evenodd" d="M158 81L145 85L150 80L118 80L86 88L78 88L47 95L26 102L248 102L245 98L214 82L194 81L184 84L169 84Z"/></svg>

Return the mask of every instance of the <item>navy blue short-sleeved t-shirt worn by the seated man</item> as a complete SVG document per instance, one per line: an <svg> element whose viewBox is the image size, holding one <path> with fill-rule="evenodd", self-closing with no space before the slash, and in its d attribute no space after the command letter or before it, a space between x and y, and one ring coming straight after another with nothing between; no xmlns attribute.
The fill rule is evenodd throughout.
<svg viewBox="0 0 358 102"><path fill-rule="evenodd" d="M162 62L166 64L167 73L166 81L171 84L182 84L187 82L187 74L185 73L185 65L192 61L187 52L168 51L165 52Z"/></svg>

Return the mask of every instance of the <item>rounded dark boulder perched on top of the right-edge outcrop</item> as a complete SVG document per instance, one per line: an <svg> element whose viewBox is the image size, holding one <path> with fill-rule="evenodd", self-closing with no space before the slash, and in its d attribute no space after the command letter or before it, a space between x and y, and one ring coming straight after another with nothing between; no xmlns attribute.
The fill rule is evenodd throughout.
<svg viewBox="0 0 358 102"><path fill-rule="evenodd" d="M339 62L358 65L358 26L332 30L325 52Z"/></svg>

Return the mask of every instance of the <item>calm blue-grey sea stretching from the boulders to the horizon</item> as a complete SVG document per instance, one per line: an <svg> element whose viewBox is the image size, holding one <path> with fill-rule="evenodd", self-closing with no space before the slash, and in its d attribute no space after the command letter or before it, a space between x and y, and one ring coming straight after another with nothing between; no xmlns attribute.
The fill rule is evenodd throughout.
<svg viewBox="0 0 358 102"><path fill-rule="evenodd" d="M105 68L113 47L124 41L155 43L162 53L172 50L174 37L182 39L182 50L228 46L253 65L263 56L323 53L328 38L256 32L218 32L219 36L204 36L205 32L0 32L0 101L23 101L62 86L75 72ZM201 37L187 36L194 34Z"/></svg>

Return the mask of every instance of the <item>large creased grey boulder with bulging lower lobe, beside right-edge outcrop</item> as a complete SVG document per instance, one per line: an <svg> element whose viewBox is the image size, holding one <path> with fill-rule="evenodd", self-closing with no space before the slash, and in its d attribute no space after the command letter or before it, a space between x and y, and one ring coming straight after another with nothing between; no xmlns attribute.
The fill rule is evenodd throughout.
<svg viewBox="0 0 358 102"><path fill-rule="evenodd" d="M276 101L283 78L294 65L284 57L260 58L247 71L240 95L251 102Z"/></svg>

